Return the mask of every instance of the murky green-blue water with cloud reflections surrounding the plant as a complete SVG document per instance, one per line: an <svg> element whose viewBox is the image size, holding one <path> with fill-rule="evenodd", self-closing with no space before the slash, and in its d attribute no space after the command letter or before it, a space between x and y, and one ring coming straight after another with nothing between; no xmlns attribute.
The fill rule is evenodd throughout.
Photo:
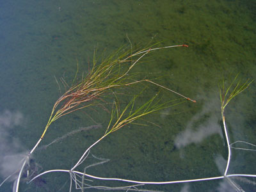
<svg viewBox="0 0 256 192"><path fill-rule="evenodd" d="M256 79L255 10L255 1L2 2L1 160L6 154L31 149L40 138L52 106L60 97L54 76L70 83L76 74L77 61L81 75L88 70L88 63L92 63L95 48L99 54L104 50L108 54L129 45L129 40L133 47L161 42L159 46L188 44L189 47L152 52L132 72L141 72L141 78L161 77L157 83L195 99L196 104L186 102L162 111L169 115L148 116L146 120L157 126L131 125L111 134L92 149L93 155L110 161L87 172L99 177L144 181L223 175L227 146L221 131L218 84L223 76L231 80L237 72L242 79ZM149 88L141 102L158 90L148 84L141 86ZM125 92L134 93L139 89L138 86L133 92L132 89ZM231 142L243 140L255 144L255 90L252 83L227 108ZM164 93L166 97L179 98ZM13 117L11 124L4 124L6 114ZM19 121L13 123L18 117ZM102 128L73 134L45 150L36 151L33 159L38 167L42 167L42 171L70 169L86 147L104 134L109 117L102 108L88 108L54 122L40 145L96 122L102 124ZM255 152L232 150L228 173L255 174L254 161ZM86 161L87 164L95 162L91 157ZM222 170L218 168L220 164ZM1 164L1 170L3 166L6 165ZM83 167L78 170L83 172ZM67 173L50 173L43 178L46 184L36 186L23 182L20 191L58 191L65 183L60 191L69 190ZM246 179L251 183L234 181L245 191L255 190L256 180ZM97 181L88 184L125 185ZM141 189L236 191L227 180L147 185ZM4 184L2 190L12 191L12 183Z"/></svg>

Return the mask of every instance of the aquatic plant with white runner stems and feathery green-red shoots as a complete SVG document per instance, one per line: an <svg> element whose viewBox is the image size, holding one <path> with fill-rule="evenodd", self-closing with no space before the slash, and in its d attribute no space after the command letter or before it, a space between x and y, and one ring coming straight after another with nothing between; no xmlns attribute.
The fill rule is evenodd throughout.
<svg viewBox="0 0 256 192"><path fill-rule="evenodd" d="M64 81L64 79L61 79L63 86L65 86L67 90L65 93L63 93L63 95L61 95L61 97L58 100L56 100L52 108L51 115L49 117L47 125L45 126L45 129L42 133L42 136L37 141L36 145L32 148L32 150L29 152L28 156L24 157L24 159L22 160L22 166L20 167L20 169L12 174L12 175L18 175L17 179L15 180L13 191L16 191L16 192L19 191L20 179L22 177L22 173L24 173L24 170L26 168L29 169L29 159L31 159L31 154L35 151L35 149L38 147L42 139L45 137L45 134L49 129L49 126L52 124L52 122L58 120L58 118L60 118L61 116L68 115L69 113L72 113L79 109L88 108L90 106L98 106L98 105L101 106L102 103L106 104L107 102L104 100L104 97L106 96L108 97L108 99L113 100L113 102L110 102L110 103L108 102L108 104L111 104L112 106L112 111L110 113L110 120L109 120L108 127L106 127L106 131L104 132L104 134L92 145L90 145L90 147L84 150L79 160L76 162L74 166L72 166L72 168L70 168L70 170L62 170L62 169L48 170L46 172L36 175L35 177L33 175L33 179L31 179L29 182L38 180L40 176L46 173L65 172L65 173L69 173L70 175L70 191L72 190L72 182L76 184L76 189L80 189L81 191L84 191L84 189L88 189L88 188L140 191L140 189L138 189L138 186L145 185L145 184L173 184L173 183L197 182L197 181L214 180L214 179L228 179L228 181L230 181L236 189L237 188L240 189L239 187L237 187L236 183L230 179L231 177L256 177L256 175L248 175L248 174L229 174L228 175L227 173L228 167L230 164L230 158L231 158L230 148L231 148L231 145L233 145L234 143L230 144L230 140L228 138L228 129L225 123L225 115L224 115L225 108L230 103L230 101L234 99L234 97L239 95L239 93L243 92L252 83L252 81L249 81L249 80L245 81L244 83L241 83L241 81L237 82L238 75L234 78L234 81L232 81L232 83L227 88L225 86L225 81L223 81L223 83L221 83L221 86L220 86L221 118L223 120L223 126L225 131L225 140L227 141L227 144L228 144L228 160L225 168L225 173L223 173L223 175L220 175L217 177L200 178L200 179L152 182L152 181L97 177L97 176L89 175L88 173L86 173L86 168L90 166L106 163L108 161L106 159L99 159L100 160L99 163L94 163L87 166L86 168L84 168L84 172L79 172L76 170L78 166L81 166L81 164L84 163L84 161L86 161L86 158L90 154L90 150L95 145L97 145L97 143L99 143L101 140L106 138L106 136L108 136L109 134L115 131L118 131L122 127L125 127L129 124L144 125L144 124L140 124L138 120L140 120L146 115L149 115L152 113L160 113L160 111L163 109L176 106L188 100L192 102L196 102L196 100L192 100L189 97L185 97L184 95L171 90L170 88L166 88L161 84L158 84L152 81L152 79L139 79L137 74L134 74L131 72L132 68L138 65L141 59L149 52L156 51L158 49L168 49L171 47L188 47L188 45L174 45L174 46L157 47L157 48L147 47L145 49L142 49L140 51L135 51L135 52L132 52L132 50L129 50L129 49L125 49L125 47L122 47L121 49L114 52L104 60L101 60L99 63L96 59L96 52L95 52L93 56L92 67L89 68L87 74L85 76L82 76L80 80L77 81L78 67L77 67L76 76L74 77L74 81L72 82L72 86L69 87L68 84ZM141 86L140 83L152 84L152 86L157 86L159 90L161 89L167 90L168 92L172 92L172 93L175 93L176 95L179 95L179 97L181 98L174 99L174 100L173 99L163 100L162 97L159 97L159 95L161 95L160 94L161 91L159 91L154 95L149 95L150 99L148 99L147 102L144 102L143 104L141 104L140 102L137 102L137 100L138 100L138 97L143 95L145 86ZM140 92L136 93L136 95L132 95L132 99L126 105L120 106L120 102L118 98L119 96L114 92L114 89L124 88L128 86L130 87L135 84L139 84L143 88L140 88ZM75 132L79 132L79 131L81 130L79 129ZM68 133L67 135L61 138L58 138L57 140L54 140L52 143L63 140L64 138L67 138L67 136L73 133L74 131ZM235 143L237 142L253 145L246 141L235 141ZM52 143L50 143L49 145L51 145ZM48 147L49 145L47 145L46 147ZM97 159L97 157L95 158ZM0 184L0 187L8 178L6 178ZM132 185L120 186L115 188L110 188L108 186L92 186L86 183L86 181L90 179L129 182L129 183L132 183ZM241 190L243 191L243 189ZM150 190L147 190L147 191L150 191Z"/></svg>

